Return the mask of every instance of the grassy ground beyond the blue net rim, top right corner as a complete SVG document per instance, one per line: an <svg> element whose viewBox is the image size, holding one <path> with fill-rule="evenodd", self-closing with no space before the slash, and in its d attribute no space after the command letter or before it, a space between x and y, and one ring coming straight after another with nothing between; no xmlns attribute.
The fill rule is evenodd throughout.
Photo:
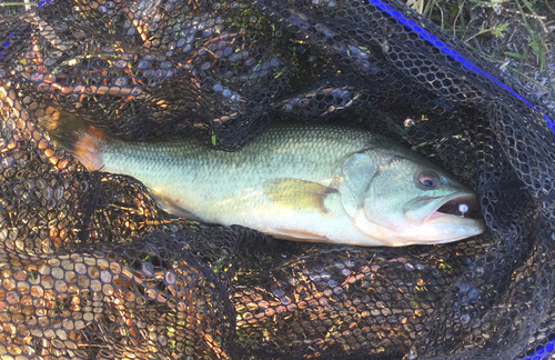
<svg viewBox="0 0 555 360"><path fill-rule="evenodd" d="M549 61L555 58L555 46L548 41L555 28L553 0L402 1L470 49L549 91L555 98L548 71Z"/></svg>

